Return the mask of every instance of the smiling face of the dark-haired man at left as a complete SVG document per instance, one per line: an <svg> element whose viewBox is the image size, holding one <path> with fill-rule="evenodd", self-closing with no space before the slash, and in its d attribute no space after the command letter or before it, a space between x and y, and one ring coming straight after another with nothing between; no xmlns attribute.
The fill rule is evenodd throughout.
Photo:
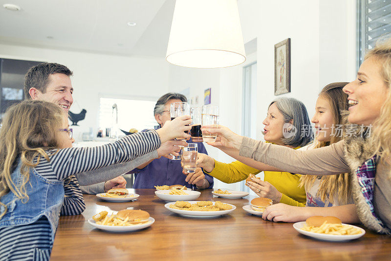
<svg viewBox="0 0 391 261"><path fill-rule="evenodd" d="M33 99L44 100L59 105L65 112L69 111L73 103L73 87L70 77L64 73L53 73L49 76L46 92L37 90L38 94Z"/></svg>

